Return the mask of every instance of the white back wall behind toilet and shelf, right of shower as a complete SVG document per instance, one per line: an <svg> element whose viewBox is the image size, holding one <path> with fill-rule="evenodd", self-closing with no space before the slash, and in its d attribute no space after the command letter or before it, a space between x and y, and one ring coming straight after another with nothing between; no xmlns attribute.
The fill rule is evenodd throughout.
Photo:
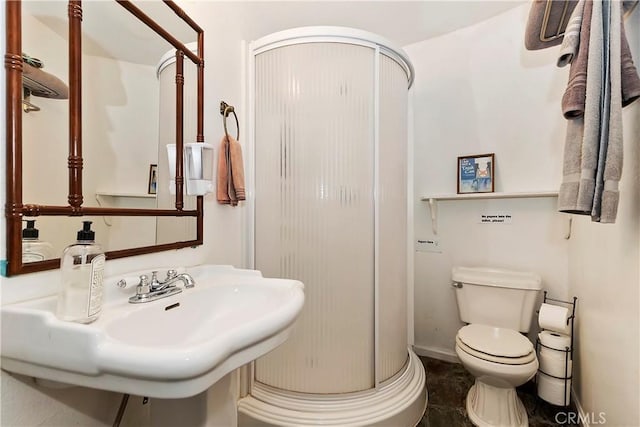
<svg viewBox="0 0 640 427"><path fill-rule="evenodd" d="M557 190L564 119L559 101L566 71L556 49L528 52L528 5L477 25L405 47L416 68L414 108L415 239L438 239L442 253L415 254L418 351L454 356L459 321L450 286L455 265L539 273L556 298L568 295L567 219L555 198L445 201L437 235L420 197L456 193L457 157L495 153L495 190ZM480 224L509 213L512 224Z"/></svg>

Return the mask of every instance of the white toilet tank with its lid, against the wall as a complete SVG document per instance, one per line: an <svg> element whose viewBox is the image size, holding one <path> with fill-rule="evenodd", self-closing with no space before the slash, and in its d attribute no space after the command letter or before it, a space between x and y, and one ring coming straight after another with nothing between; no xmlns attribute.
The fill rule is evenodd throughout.
<svg viewBox="0 0 640 427"><path fill-rule="evenodd" d="M528 332L541 289L535 273L479 267L451 272L460 320Z"/></svg>

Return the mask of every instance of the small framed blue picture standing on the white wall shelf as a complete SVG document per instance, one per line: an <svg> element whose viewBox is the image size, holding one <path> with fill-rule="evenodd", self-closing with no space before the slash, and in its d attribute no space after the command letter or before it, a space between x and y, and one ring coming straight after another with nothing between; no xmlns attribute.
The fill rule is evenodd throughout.
<svg viewBox="0 0 640 427"><path fill-rule="evenodd" d="M458 157L458 194L493 193L495 165L494 153Z"/></svg>

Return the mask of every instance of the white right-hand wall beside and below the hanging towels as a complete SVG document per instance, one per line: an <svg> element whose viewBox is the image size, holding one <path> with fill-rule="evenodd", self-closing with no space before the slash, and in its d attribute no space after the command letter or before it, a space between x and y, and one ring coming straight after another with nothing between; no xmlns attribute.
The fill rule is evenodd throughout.
<svg viewBox="0 0 640 427"><path fill-rule="evenodd" d="M639 13L625 21L640 65ZM640 101L623 110L624 167L615 224L576 217L570 291L578 297L574 390L607 425L640 425Z"/></svg>

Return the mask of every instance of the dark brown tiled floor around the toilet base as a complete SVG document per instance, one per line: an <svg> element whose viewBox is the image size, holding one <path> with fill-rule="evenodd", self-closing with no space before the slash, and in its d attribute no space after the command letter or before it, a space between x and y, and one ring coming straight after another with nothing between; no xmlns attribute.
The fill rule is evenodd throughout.
<svg viewBox="0 0 640 427"><path fill-rule="evenodd" d="M467 392L474 382L473 376L458 363L428 357L420 357L420 360L427 372L429 402L418 427L473 427L465 409ZM532 382L518 387L518 396L527 408L530 427L558 426L556 414L571 410L539 399ZM560 416L559 419L564 418Z"/></svg>

